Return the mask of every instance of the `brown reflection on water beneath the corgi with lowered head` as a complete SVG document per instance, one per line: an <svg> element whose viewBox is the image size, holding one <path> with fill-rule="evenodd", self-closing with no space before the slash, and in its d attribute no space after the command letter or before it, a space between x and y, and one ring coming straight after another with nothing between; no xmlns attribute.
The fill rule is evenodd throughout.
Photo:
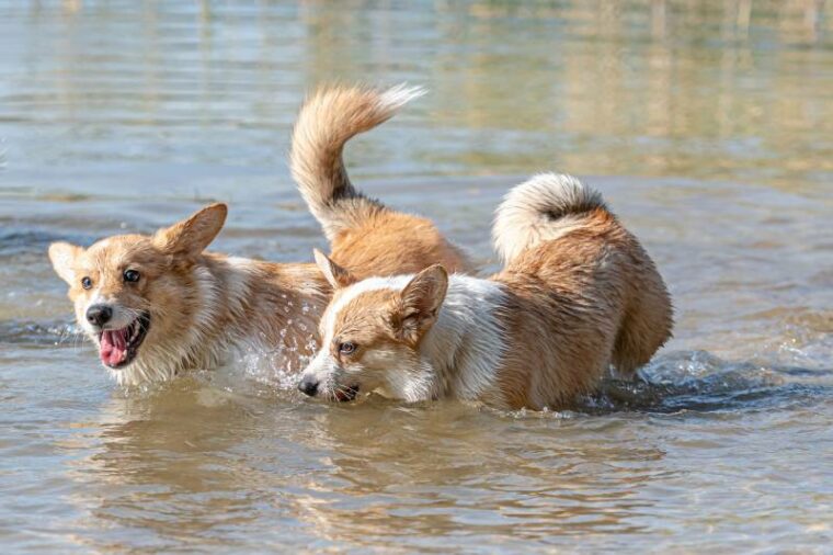
<svg viewBox="0 0 833 555"><path fill-rule="evenodd" d="M663 455L647 444L589 445L594 427L584 421L541 419L522 439L515 417L460 406L340 412L317 419L338 454L330 475L310 480L321 494L304 503L332 541L635 532L631 520L651 505L638 491Z"/></svg>

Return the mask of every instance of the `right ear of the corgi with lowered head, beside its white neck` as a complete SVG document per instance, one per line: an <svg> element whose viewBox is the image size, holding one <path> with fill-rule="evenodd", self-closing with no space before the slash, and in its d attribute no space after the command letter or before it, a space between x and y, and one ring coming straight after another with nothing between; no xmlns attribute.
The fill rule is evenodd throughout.
<svg viewBox="0 0 833 555"><path fill-rule="evenodd" d="M426 268L404 286L392 325L406 341L419 343L423 333L436 321L447 290L448 272L440 264Z"/></svg>

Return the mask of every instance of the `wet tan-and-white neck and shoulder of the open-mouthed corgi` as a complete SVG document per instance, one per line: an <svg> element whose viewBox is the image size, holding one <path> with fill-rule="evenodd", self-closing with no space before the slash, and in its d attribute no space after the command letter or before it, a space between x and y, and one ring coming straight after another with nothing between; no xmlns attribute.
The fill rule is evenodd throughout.
<svg viewBox="0 0 833 555"><path fill-rule="evenodd" d="M142 346L116 380L164 381L194 369L266 365L297 372L317 348L317 326L330 288L315 264L276 264L206 254L191 270L194 298L187 329ZM153 322L151 321L151 326Z"/></svg>

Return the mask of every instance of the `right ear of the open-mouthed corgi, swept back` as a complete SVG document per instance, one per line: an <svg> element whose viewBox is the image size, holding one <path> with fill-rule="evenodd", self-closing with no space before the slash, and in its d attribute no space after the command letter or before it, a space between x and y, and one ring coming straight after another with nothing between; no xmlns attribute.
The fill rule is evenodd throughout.
<svg viewBox="0 0 833 555"><path fill-rule="evenodd" d="M169 254L196 257L220 233L227 215L225 204L209 204L190 218L157 231L153 243Z"/></svg>

